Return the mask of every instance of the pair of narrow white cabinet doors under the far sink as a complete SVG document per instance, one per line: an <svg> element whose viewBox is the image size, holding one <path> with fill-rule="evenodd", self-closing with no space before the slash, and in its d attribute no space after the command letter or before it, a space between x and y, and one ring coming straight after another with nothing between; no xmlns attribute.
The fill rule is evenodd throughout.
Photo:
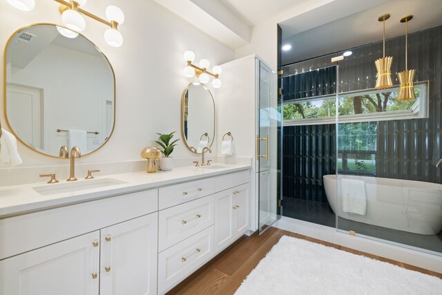
<svg viewBox="0 0 442 295"><path fill-rule="evenodd" d="M215 193L215 253L249 229L249 184Z"/></svg>

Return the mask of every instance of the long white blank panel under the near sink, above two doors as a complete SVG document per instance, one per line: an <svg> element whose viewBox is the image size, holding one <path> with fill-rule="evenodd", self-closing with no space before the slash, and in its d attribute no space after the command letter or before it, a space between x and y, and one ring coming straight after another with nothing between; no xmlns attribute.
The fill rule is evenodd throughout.
<svg viewBox="0 0 442 295"><path fill-rule="evenodd" d="M0 220L0 259L157 211L157 190L140 191Z"/></svg>

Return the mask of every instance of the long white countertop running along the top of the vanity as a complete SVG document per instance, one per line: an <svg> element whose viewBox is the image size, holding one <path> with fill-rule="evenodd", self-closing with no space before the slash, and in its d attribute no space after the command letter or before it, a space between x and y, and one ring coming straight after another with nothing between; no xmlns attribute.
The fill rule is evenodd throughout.
<svg viewBox="0 0 442 295"><path fill-rule="evenodd" d="M100 198L118 196L135 191L144 191L146 189L155 189L169 184L187 182L201 178L209 178L216 175L231 173L250 169L250 165L213 165L211 168L186 166L178 167L172 171L157 171L155 173L133 172L106 176L96 176L95 179L113 179L125 182L124 184L115 184L109 187L99 187L94 189L81 189L79 191L70 191L67 193L56 193L42 196L35 191L35 187L44 187L66 183L62 180L57 184L46 184L46 182L21 184L10 187L0 187L0 218L20 215L32 211L41 211L55 207L62 207L68 204L79 202L88 202ZM77 180L79 182L88 182L90 180Z"/></svg>

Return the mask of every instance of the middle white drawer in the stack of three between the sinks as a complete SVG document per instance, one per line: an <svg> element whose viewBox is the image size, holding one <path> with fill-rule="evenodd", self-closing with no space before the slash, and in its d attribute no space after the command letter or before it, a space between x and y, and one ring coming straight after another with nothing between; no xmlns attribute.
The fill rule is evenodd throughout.
<svg viewBox="0 0 442 295"><path fill-rule="evenodd" d="M213 196L160 211L158 249L162 251L213 225Z"/></svg>

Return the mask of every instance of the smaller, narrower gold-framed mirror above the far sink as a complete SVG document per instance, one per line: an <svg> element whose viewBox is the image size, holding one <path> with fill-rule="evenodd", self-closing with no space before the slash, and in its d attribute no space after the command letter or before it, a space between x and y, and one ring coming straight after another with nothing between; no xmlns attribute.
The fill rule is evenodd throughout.
<svg viewBox="0 0 442 295"><path fill-rule="evenodd" d="M181 98L181 133L193 153L211 147L215 137L215 102L209 89L199 82L189 84Z"/></svg>

